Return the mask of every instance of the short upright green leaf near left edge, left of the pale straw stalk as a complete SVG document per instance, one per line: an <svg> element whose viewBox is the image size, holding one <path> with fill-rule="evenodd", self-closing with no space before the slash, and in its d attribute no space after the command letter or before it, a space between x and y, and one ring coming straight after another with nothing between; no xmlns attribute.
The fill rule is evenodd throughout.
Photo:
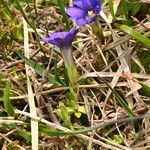
<svg viewBox="0 0 150 150"><path fill-rule="evenodd" d="M9 92L10 92L10 85L8 82L6 82L4 95L3 95L4 108L5 108L8 116L14 116L14 109L9 100Z"/></svg>

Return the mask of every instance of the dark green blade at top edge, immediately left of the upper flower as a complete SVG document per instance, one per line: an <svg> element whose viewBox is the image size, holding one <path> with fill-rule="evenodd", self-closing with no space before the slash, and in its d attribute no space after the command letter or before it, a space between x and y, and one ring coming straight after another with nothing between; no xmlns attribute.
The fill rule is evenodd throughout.
<svg viewBox="0 0 150 150"><path fill-rule="evenodd" d="M65 29L70 30L70 24L69 24L68 16L65 12L64 0L57 0L57 5L60 8L61 14L63 16L63 20L65 22Z"/></svg>

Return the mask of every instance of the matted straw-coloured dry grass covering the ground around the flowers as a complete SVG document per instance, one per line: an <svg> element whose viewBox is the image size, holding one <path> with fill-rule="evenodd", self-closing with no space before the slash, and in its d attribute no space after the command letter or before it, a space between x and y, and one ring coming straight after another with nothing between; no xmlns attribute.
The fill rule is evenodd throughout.
<svg viewBox="0 0 150 150"><path fill-rule="evenodd" d="M114 2L114 10L117 10L120 1L115 0ZM148 7L145 1L140 4L144 8ZM139 10L143 18L135 15L132 25L136 31L150 37L148 14L143 14L143 7ZM19 14L19 11L14 11ZM85 106L87 112L86 115L82 114L81 118L72 116L72 124L76 130L128 116L117 103L114 92L101 81L101 78L126 100L135 115L149 115L150 113L150 97L140 84L142 81L146 85L150 85L150 59L148 60L150 49L114 25L115 20L111 17L108 5L103 6L103 12L107 17L101 14L102 17L97 18L102 27L101 38L95 35L94 23L91 23L79 29L73 42L74 60L80 74L78 101L80 105ZM36 30L40 35L45 36L53 31L63 29L58 20L58 17L60 20L62 19L58 7L38 7L37 13ZM33 19L34 15L31 5L29 17ZM18 17L21 18L21 14ZM22 24L25 25L26 22ZM57 72L60 79L64 79L63 60L58 49L39 41L29 26L24 30L24 34L29 35L29 38L24 39L27 45L14 40L12 41L14 46L10 44L8 47L10 53L7 49L0 52L2 74L0 101L3 104L4 81L9 80L11 83L9 98L16 108L15 118L9 118L4 113L4 106L1 105L0 147L2 149L150 149L149 119L139 120L138 129L134 127L133 123L126 122L77 135L50 136L48 133L44 134L40 131L40 127L38 130L38 125L44 123L48 126L49 131L53 129L70 131L64 127L62 120L53 112L59 102L64 101L65 93L69 88L67 86L57 87L47 82L48 72L52 74ZM0 49L2 50L2 48ZM16 54L15 58L13 57L16 48L25 52L26 56L29 55L36 63L47 68L42 77L36 74L34 68L25 68L24 62L17 60ZM3 124L7 120L8 124ZM29 124L26 124L30 120L31 131ZM18 129L31 133L32 142L25 140L26 138L16 132Z"/></svg>

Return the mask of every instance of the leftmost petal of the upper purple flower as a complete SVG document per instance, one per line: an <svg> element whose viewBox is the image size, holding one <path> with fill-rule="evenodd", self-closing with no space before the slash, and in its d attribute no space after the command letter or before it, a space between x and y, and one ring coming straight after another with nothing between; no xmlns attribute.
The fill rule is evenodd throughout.
<svg viewBox="0 0 150 150"><path fill-rule="evenodd" d="M70 16L70 19L78 19L86 15L85 11L77 7L69 7L66 13Z"/></svg>

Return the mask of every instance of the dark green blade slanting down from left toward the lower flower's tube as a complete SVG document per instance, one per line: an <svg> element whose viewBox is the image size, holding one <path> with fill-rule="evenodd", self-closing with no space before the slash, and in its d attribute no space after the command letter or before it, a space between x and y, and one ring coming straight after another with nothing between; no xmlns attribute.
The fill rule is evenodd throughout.
<svg viewBox="0 0 150 150"><path fill-rule="evenodd" d="M16 51L16 53L25 61L25 63L27 65L32 67L35 70L35 72L37 74L39 74L40 76L42 76L43 73L46 71L46 69L44 69L43 67L41 67L40 65L38 65L34 61L28 59L27 57L25 57L21 52ZM62 84L56 80L55 76L50 74L50 73L48 74L48 81L50 83L53 83L53 84L57 85L57 86L62 86Z"/></svg>

